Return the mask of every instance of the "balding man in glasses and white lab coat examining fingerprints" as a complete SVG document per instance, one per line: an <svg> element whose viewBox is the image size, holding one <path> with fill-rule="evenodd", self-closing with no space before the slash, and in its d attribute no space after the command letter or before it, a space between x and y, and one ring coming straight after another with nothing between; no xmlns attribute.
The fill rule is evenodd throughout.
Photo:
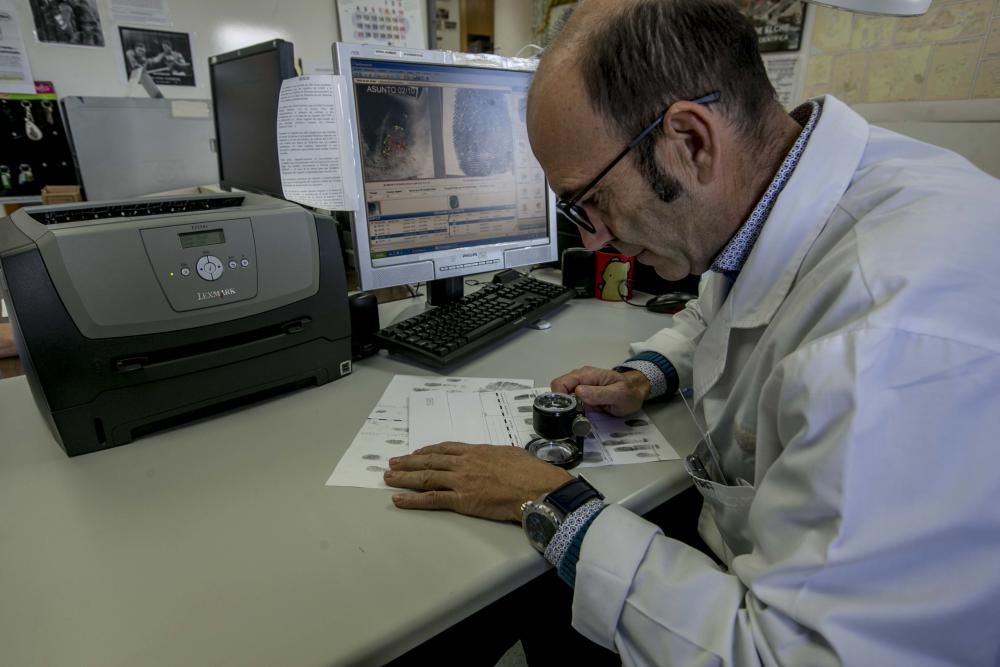
<svg viewBox="0 0 1000 667"><path fill-rule="evenodd" d="M691 387L724 567L589 499L545 548L574 627L629 665L997 664L998 182L833 97L786 115L725 0L584 3L528 112L588 247L703 274L630 361L552 388L627 414ZM569 478L455 443L386 475L423 492L398 507L509 520Z"/></svg>

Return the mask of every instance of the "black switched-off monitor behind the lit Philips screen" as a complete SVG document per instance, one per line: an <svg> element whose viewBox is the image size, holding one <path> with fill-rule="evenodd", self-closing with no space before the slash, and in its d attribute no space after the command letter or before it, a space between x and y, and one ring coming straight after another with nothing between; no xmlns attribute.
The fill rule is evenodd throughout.
<svg viewBox="0 0 1000 667"><path fill-rule="evenodd" d="M281 197L278 94L295 76L292 44L281 39L208 59L219 185Z"/></svg>

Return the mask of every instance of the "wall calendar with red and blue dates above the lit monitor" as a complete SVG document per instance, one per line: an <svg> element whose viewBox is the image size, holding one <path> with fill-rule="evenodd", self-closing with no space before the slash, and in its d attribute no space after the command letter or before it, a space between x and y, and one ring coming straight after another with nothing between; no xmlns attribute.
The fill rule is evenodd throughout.
<svg viewBox="0 0 1000 667"><path fill-rule="evenodd" d="M358 44L427 48L420 0L338 0L340 38Z"/></svg>

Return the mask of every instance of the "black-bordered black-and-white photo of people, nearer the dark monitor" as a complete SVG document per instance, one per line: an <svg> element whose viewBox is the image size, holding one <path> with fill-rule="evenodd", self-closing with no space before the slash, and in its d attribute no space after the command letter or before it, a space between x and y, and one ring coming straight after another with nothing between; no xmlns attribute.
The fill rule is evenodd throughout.
<svg viewBox="0 0 1000 667"><path fill-rule="evenodd" d="M193 86L191 36L186 32L118 28L125 71L129 77L144 68L159 86Z"/></svg>

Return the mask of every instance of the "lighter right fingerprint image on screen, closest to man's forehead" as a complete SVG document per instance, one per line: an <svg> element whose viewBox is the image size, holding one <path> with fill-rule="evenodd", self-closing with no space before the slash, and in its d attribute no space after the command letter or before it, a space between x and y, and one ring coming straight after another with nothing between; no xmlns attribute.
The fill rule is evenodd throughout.
<svg viewBox="0 0 1000 667"><path fill-rule="evenodd" d="M449 176L496 176L514 165L508 95L496 90L444 90L445 169Z"/></svg>

